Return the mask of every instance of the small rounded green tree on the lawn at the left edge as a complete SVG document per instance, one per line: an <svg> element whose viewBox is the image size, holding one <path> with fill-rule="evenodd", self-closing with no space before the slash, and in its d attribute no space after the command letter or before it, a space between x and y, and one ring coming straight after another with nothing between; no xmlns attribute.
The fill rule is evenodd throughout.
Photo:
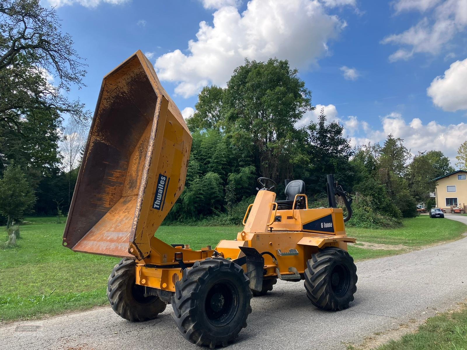
<svg viewBox="0 0 467 350"><path fill-rule="evenodd" d="M22 217L34 205L35 200L34 191L21 168L16 165L8 166L0 180L0 213L7 217L7 228L12 220Z"/></svg>

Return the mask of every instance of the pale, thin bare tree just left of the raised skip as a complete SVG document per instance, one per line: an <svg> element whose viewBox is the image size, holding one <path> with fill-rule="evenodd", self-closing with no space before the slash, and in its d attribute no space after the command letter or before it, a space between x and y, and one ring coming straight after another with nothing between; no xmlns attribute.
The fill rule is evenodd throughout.
<svg viewBox="0 0 467 350"><path fill-rule="evenodd" d="M71 203L71 171L79 166L79 155L85 146L85 129L75 119L68 119L64 128L64 138L60 151L63 155L63 165L68 174L68 206Z"/></svg>

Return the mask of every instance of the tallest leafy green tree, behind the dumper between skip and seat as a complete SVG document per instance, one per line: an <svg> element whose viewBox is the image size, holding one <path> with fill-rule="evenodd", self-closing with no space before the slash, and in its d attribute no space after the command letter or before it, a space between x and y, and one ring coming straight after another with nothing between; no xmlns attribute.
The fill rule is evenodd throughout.
<svg viewBox="0 0 467 350"><path fill-rule="evenodd" d="M222 111L223 127L234 145L255 155L261 174L286 178L301 150L294 142L295 123L313 109L311 91L290 69L288 61L245 60L227 83ZM253 147L251 147L253 146Z"/></svg>

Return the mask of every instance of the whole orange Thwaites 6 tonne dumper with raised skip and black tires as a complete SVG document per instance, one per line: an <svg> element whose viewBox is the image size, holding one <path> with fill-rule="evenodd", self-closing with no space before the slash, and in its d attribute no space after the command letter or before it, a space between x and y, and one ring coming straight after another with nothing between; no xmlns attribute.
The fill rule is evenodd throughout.
<svg viewBox="0 0 467 350"><path fill-rule="evenodd" d="M123 258L108 280L113 310L130 321L157 317L171 303L192 343L232 342L251 313L250 299L277 279L304 280L311 303L341 310L354 300L356 267L344 223L351 198L328 175L329 208L311 209L304 182L289 182L276 201L262 185L233 241L193 251L167 244L157 228L183 191L191 134L148 59L137 51L104 77L63 245ZM347 208L338 208L335 196Z"/></svg>

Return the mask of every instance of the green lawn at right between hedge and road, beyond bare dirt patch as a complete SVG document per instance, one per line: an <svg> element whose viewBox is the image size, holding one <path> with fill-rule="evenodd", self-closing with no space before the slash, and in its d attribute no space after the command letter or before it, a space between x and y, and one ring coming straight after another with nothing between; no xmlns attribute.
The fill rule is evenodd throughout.
<svg viewBox="0 0 467 350"><path fill-rule="evenodd" d="M466 225L449 219L432 219L421 215L403 220L403 227L396 229L361 229L348 227L347 235L369 243L407 245L419 247L440 241L459 238L467 231Z"/></svg>

